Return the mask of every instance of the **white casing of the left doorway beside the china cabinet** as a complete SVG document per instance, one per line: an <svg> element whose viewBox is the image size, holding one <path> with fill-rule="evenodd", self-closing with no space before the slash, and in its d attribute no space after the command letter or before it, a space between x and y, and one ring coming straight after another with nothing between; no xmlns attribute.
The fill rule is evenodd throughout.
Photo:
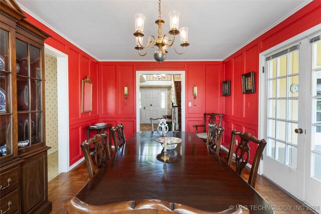
<svg viewBox="0 0 321 214"><path fill-rule="evenodd" d="M45 54L57 60L58 172L59 173L68 172L69 171L68 55L47 44L45 44ZM45 68L46 67L47 66L45 65ZM46 121L47 120L48 119L46 118Z"/></svg>

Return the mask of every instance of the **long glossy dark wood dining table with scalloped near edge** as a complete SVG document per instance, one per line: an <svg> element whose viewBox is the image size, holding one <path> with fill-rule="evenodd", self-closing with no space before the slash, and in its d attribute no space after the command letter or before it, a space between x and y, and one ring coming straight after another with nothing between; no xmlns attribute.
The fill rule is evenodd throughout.
<svg viewBox="0 0 321 214"><path fill-rule="evenodd" d="M88 181L65 207L117 204L156 199L184 204L206 212L230 209L237 204L251 213L273 213L270 204L196 134L169 132L181 138L166 164L160 133L137 132ZM73 201L73 202L71 202ZM77 202L75 202L77 201ZM88 206L90 205L90 206Z"/></svg>

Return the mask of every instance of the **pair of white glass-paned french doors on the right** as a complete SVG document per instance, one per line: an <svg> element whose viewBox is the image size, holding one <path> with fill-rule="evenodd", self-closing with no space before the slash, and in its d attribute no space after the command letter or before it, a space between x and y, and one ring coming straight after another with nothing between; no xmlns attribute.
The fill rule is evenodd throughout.
<svg viewBox="0 0 321 214"><path fill-rule="evenodd" d="M320 211L321 42L304 38L264 61L263 175Z"/></svg>

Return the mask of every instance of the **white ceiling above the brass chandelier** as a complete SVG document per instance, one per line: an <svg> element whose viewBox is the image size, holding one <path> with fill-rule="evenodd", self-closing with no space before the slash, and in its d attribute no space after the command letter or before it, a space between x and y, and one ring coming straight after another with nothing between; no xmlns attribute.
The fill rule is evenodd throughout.
<svg viewBox="0 0 321 214"><path fill-rule="evenodd" d="M154 61L136 53L136 13L146 17L144 42L157 36L158 1L17 0L27 13L99 61ZM190 46L183 55L169 48L166 61L222 60L310 1L162 1L163 35L169 12L180 11L180 28L189 28ZM177 41L180 41L179 37ZM145 44L144 43L144 44ZM182 50L179 44L178 51Z"/></svg>

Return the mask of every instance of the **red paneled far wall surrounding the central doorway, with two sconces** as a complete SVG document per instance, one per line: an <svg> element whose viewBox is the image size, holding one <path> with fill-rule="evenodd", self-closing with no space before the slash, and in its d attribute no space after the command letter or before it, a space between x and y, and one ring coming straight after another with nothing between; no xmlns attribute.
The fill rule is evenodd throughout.
<svg viewBox="0 0 321 214"><path fill-rule="evenodd" d="M222 113L222 62L100 62L99 118L113 125L123 123L126 138L136 132L136 71L185 71L186 130L195 132L193 125L201 125L204 112ZM165 71L165 72L163 72ZM196 106L193 86L198 87ZM124 86L129 95L125 104Z"/></svg>

